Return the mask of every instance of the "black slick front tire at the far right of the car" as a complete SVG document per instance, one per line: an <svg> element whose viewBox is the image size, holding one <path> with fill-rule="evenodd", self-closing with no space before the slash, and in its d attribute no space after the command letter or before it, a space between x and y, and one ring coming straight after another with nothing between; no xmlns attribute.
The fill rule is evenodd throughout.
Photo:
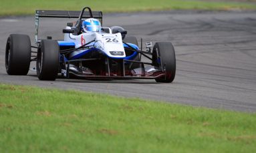
<svg viewBox="0 0 256 153"><path fill-rule="evenodd" d="M160 60L158 57L160 57ZM172 82L176 73L176 58L175 51L172 43L170 42L159 42L154 45L152 64L160 68L162 63L163 69L165 69L165 75L156 78L156 82Z"/></svg>

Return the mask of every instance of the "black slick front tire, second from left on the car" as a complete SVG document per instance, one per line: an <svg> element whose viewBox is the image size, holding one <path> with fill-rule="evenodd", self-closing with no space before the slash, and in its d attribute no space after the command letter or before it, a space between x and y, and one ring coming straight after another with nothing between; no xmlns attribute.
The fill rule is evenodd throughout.
<svg viewBox="0 0 256 153"><path fill-rule="evenodd" d="M37 51L37 77L39 80L55 80L59 70L59 44L42 40Z"/></svg>

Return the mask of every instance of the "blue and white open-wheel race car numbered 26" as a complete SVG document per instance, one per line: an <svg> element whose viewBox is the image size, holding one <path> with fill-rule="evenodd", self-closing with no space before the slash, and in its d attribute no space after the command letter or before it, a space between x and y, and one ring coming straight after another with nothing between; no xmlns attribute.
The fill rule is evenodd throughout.
<svg viewBox="0 0 256 153"><path fill-rule="evenodd" d="M38 39L39 17L77 18L67 23L64 39ZM141 39L142 42L142 39ZM150 62L142 61L148 59ZM122 27L102 27L102 11L84 7L82 11L35 11L35 45L28 35L11 34L5 50L8 75L27 75L30 63L36 61L39 80L56 78L86 79L155 79L172 82L176 59L172 43L142 43L128 36ZM146 67L145 67L146 65Z"/></svg>

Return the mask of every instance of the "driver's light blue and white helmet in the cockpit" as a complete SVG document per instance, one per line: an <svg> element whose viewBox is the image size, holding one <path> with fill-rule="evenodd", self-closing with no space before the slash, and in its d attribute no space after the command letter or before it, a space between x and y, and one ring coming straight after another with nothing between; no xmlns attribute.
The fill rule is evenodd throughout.
<svg viewBox="0 0 256 153"><path fill-rule="evenodd" d="M90 19L86 19L82 23L82 31L84 31L85 33L100 32L101 29L102 27L98 19L90 18Z"/></svg>

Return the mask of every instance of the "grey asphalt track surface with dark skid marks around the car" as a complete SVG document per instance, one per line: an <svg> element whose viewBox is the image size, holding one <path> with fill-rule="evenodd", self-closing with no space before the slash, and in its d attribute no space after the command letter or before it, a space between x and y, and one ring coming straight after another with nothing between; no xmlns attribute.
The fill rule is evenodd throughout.
<svg viewBox="0 0 256 153"><path fill-rule="evenodd" d="M40 24L41 37L51 35L58 39L62 37L61 29L66 21L51 19ZM142 37L144 43L171 41L176 51L174 82L63 78L40 81L33 71L27 76L9 76L5 72L7 37L11 33L24 33L34 42L34 17L0 19L0 82L256 111L256 12L166 11L104 15L104 26L112 25L124 27L129 35L138 39Z"/></svg>

